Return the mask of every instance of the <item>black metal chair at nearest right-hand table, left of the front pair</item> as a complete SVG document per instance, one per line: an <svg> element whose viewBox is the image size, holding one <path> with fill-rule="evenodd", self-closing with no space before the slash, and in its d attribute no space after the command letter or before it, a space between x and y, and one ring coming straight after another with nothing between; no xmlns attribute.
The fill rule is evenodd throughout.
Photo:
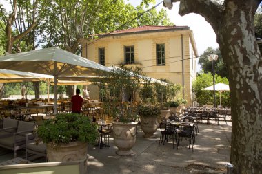
<svg viewBox="0 0 262 174"><path fill-rule="evenodd" d="M159 124L161 135L159 138L159 146L160 142L163 142L163 145L165 145L165 140L168 141L168 138L172 137L173 142L173 149L174 149L174 139L176 139L177 142L177 130L174 128L174 126L170 122L161 122Z"/></svg>

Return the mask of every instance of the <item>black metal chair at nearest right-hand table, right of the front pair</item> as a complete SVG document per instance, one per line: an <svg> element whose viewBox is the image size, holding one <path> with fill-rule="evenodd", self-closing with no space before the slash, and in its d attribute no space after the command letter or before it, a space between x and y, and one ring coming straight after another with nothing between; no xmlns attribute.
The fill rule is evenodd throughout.
<svg viewBox="0 0 262 174"><path fill-rule="evenodd" d="M192 151L194 151L194 142L195 142L195 135L194 135L194 126L191 126L188 123L181 123L179 124L179 130L177 132L178 139L177 139L177 149L179 147L179 141L182 141L183 138L187 140L189 139L189 147L192 145Z"/></svg>

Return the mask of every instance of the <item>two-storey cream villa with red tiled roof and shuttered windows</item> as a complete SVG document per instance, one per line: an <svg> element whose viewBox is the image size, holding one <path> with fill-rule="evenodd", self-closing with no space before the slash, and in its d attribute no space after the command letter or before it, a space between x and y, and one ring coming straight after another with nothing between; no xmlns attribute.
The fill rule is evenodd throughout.
<svg viewBox="0 0 262 174"><path fill-rule="evenodd" d="M145 25L83 39L81 45L82 56L101 65L141 67L147 76L180 84L183 98L192 105L198 54L189 27ZM99 98L98 92L91 92L90 97Z"/></svg>

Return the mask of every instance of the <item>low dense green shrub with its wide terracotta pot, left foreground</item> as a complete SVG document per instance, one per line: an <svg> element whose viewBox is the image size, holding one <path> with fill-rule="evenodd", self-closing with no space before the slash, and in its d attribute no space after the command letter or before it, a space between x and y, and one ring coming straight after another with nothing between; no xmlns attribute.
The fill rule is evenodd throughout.
<svg viewBox="0 0 262 174"><path fill-rule="evenodd" d="M46 144L49 162L85 160L87 144L98 137L97 126L77 113L59 113L45 120L37 129L39 140Z"/></svg>

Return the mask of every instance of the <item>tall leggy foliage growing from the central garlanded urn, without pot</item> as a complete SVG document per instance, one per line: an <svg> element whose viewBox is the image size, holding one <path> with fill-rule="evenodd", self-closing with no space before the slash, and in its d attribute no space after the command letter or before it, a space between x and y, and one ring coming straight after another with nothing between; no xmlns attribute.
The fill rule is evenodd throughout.
<svg viewBox="0 0 262 174"><path fill-rule="evenodd" d="M137 115L134 102L140 91L141 69L113 67L110 72L102 72L97 79L100 94L103 96L105 113L121 122L130 122Z"/></svg>

